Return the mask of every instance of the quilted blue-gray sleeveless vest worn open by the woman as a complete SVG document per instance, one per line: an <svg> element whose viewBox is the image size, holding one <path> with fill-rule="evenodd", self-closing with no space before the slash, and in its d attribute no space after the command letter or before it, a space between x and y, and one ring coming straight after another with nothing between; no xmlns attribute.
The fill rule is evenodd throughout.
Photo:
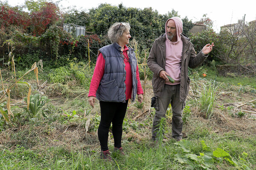
<svg viewBox="0 0 256 170"><path fill-rule="evenodd" d="M96 92L96 98L104 102L125 102L125 62L121 54L121 46L117 43L104 46L99 49L105 59L104 75L99 83ZM129 63L131 65L132 75L132 94L131 100L134 101L137 94L136 68L137 59L134 49L129 48L127 51Z"/></svg>

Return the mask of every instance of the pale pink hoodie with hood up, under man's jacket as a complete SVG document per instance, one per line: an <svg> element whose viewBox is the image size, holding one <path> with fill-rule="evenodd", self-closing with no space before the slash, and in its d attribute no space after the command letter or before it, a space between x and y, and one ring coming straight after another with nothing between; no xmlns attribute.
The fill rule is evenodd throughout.
<svg viewBox="0 0 256 170"><path fill-rule="evenodd" d="M167 38L167 30L166 26L169 20L173 20L175 22L176 26L176 32L177 32L177 42L172 42ZM181 69L181 54L182 54L182 48L183 48L183 42L181 41L180 34L182 33L183 26L182 26L182 20L180 20L180 17L172 17L169 20L166 21L166 65L165 69L168 74L170 74L170 77L172 77L175 82L171 83L169 81L166 81L166 84L168 85L177 85L180 84L180 69Z"/></svg>

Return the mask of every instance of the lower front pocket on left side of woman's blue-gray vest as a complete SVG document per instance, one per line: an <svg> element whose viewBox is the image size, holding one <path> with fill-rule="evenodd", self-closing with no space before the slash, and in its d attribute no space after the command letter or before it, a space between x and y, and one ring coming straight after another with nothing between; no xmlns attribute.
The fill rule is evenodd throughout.
<svg viewBox="0 0 256 170"><path fill-rule="evenodd" d="M99 100L105 102L117 102L119 98L118 89L119 88L115 79L100 84L98 93Z"/></svg>

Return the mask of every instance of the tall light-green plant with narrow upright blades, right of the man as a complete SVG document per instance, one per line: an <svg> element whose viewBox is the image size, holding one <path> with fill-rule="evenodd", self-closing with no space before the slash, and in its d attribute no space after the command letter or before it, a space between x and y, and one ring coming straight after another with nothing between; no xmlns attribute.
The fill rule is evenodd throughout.
<svg viewBox="0 0 256 170"><path fill-rule="evenodd" d="M213 108L215 107L217 86L215 81L209 81L208 85L202 83L203 91L200 97L201 112L205 113L205 118L210 119L212 117Z"/></svg>

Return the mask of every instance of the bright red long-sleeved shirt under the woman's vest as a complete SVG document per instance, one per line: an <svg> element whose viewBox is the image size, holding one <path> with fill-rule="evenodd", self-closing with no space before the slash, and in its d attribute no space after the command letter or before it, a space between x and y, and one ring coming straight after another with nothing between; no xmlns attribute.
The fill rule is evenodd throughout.
<svg viewBox="0 0 256 170"><path fill-rule="evenodd" d="M128 55L127 55L127 50L129 48L125 45L124 47L124 51L123 54L125 55L125 57L128 59ZM126 96L126 100L127 99L131 99L131 92L132 92L132 77L131 77L131 65L128 62L128 60L124 58L124 62L125 62L125 71L126 71L126 77L125 77L125 86L126 86L126 91L125 91L125 96ZM90 90L89 90L89 96L95 96L96 97L96 91L99 87L99 83L104 75L104 71L105 71L105 59L102 56L102 54L100 53L98 56L98 59L96 61L96 65L94 68L94 72L93 72L93 77L90 83ZM139 76L139 68L137 65L137 69L136 69L136 78L138 81L138 85L137 85L137 94L143 94L143 89L141 87L141 83L140 83L140 76Z"/></svg>

